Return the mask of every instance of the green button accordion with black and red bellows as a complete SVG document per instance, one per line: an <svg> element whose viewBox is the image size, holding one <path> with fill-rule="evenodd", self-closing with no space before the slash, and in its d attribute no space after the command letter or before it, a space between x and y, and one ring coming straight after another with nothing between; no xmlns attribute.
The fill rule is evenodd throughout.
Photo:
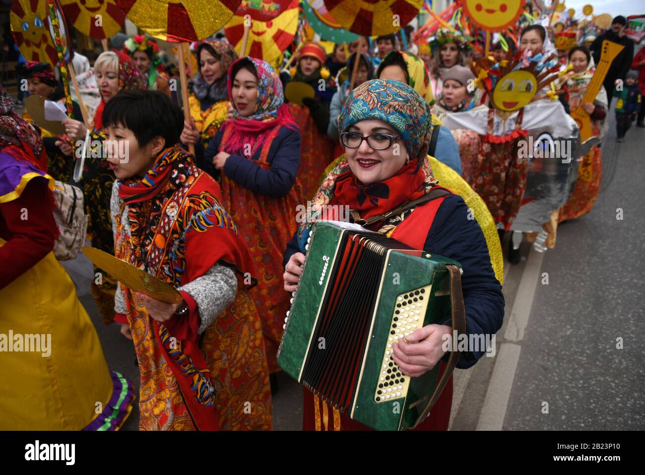
<svg viewBox="0 0 645 475"><path fill-rule="evenodd" d="M460 267L377 232L315 223L278 364L368 427L415 427L457 364L457 340L439 381L439 363L419 378L402 374L392 345L451 314L457 334L466 331Z"/></svg>

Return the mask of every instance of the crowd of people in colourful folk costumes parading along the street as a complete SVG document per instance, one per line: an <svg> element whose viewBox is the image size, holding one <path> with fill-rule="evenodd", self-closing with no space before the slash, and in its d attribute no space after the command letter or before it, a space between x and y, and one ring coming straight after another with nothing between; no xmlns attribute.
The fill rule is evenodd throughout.
<svg viewBox="0 0 645 475"><path fill-rule="evenodd" d="M619 141L633 122L645 126L645 48L634 57L625 25L615 17L606 32L581 33L562 52L553 29L536 23L497 35L488 56L458 28L440 28L417 43L410 35L363 38L330 52L304 41L292 46L295 61L282 68L238 57L220 37L192 45L197 71L188 97L171 87L177 78L156 41L135 35L94 61L100 103L87 124L74 103L75 119L63 121L63 135L26 111L19 117L2 89L0 262L10 272L0 276L0 294L16 307L15 318L25 314L25 300L41 316L12 328L56 331L58 344L68 342L73 351L53 363L34 361L28 378L34 387L7 385L0 412L9 416L0 428L117 429L132 410L132 382L108 371L74 285L55 262L58 229L43 212L43 203L55 206L54 180L70 183L79 141L128 145L126 161L117 148L84 158L92 247L170 283L181 296L180 303L159 301L94 268L101 278L91 291L101 318L134 345L139 427L270 430L284 316L312 222L327 206L348 206L370 230L459 261L468 333L502 327L499 241L513 230L530 170L518 154L521 142L544 128L570 137L577 128L571 114L580 108L593 136L602 138L612 99ZM603 39L625 48L593 101L583 101ZM66 105L51 66L27 62L21 75L30 94ZM313 96L290 100L288 90L303 85ZM575 167L571 196L544 223L548 247L555 246L558 223L593 207L600 146ZM440 197L401 209L438 190ZM308 202L310 216L297 222L297 208ZM30 219L21 219L24 210ZM508 259L520 259L514 239ZM446 334L452 335L450 320L420 328L395 345L393 359L412 377L443 367ZM457 367L471 367L482 354L462 355ZM4 361L5 381L24 378L25 363ZM23 403L25 394L51 394L54 385L58 392L46 408ZM95 401L103 410L95 412ZM365 428L307 389L303 404L304 429ZM452 379L417 429L448 429L451 404ZM321 410L333 419L328 424L325 416L324 427Z"/></svg>

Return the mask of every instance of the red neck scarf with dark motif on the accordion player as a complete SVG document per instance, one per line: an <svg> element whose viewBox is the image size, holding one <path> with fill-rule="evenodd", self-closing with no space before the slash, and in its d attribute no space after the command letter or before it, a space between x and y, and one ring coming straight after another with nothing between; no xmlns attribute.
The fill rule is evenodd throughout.
<svg viewBox="0 0 645 475"><path fill-rule="evenodd" d="M338 177L330 205L348 205L362 219L391 211L424 195L426 174L423 167L416 168L417 161L412 160L394 176L369 185L363 185L350 170Z"/></svg>

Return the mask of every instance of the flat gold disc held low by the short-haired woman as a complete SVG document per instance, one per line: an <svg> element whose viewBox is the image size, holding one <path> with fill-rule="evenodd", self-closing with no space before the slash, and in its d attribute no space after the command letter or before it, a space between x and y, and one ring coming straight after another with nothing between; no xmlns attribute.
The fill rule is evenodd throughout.
<svg viewBox="0 0 645 475"><path fill-rule="evenodd" d="M83 254L133 292L141 292L166 303L180 303L181 294L172 285L94 247L84 246Z"/></svg>

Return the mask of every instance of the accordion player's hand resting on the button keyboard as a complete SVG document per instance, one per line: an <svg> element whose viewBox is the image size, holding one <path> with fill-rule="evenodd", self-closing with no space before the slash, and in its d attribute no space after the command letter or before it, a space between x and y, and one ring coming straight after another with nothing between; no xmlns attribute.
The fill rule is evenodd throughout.
<svg viewBox="0 0 645 475"><path fill-rule="evenodd" d="M401 372L412 378L418 378L430 371L443 358L443 336L452 336L452 327L448 325L426 325L414 330L404 339L393 345L394 362Z"/></svg>

